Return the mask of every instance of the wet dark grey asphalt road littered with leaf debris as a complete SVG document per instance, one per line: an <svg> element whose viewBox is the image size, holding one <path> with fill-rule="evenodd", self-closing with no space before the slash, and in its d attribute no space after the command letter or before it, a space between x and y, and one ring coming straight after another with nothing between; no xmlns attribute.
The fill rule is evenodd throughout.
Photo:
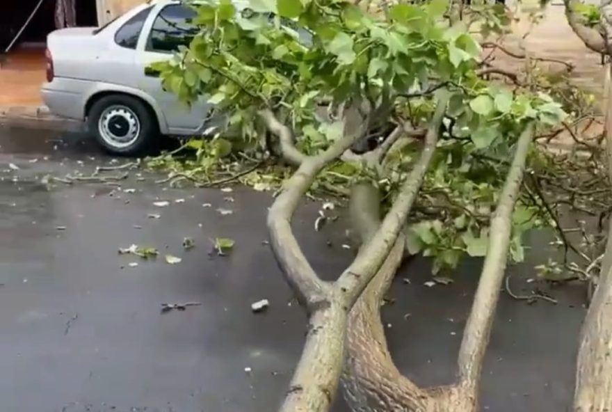
<svg viewBox="0 0 612 412"><path fill-rule="evenodd" d="M120 188L44 183L48 174L90 173L110 162L83 134L0 128L1 410L274 411L300 353L305 316L263 242L270 196L166 189L145 171L131 172ZM170 204L156 207L159 200ZM234 213L221 216L219 207ZM341 223L314 232L319 207L306 203L294 227L313 267L332 279L353 251L341 248ZM185 251L184 237L195 248ZM232 253L212 253L216 237L234 239ZM182 262L118 254L131 244ZM531 245L527 261L510 268L516 293L536 287L526 278L554 255L545 235L532 235ZM417 383L451 381L480 269L469 260L455 283L435 287L424 285L426 260L398 275L383 317L398 367ZM502 294L483 411L570 410L584 294L577 286L551 294L558 305ZM253 314L259 299L271 306ZM162 303L187 301L202 304L161 313ZM346 412L343 402L335 412Z"/></svg>

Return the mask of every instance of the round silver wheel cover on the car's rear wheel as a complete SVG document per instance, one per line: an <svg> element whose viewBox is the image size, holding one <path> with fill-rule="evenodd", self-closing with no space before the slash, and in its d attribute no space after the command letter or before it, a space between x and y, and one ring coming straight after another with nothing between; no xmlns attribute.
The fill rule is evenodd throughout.
<svg viewBox="0 0 612 412"><path fill-rule="evenodd" d="M140 134L140 120L127 106L110 106L102 112L98 121L102 139L113 148L127 148Z"/></svg>

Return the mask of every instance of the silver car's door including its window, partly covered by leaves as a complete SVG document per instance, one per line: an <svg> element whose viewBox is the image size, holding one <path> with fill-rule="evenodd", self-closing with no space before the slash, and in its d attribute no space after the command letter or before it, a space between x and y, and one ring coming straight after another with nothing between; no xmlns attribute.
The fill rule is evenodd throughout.
<svg viewBox="0 0 612 412"><path fill-rule="evenodd" d="M151 95L163 111L170 134L197 134L207 122L211 104L204 97L188 106L177 95L163 90L159 74L148 69L151 63L172 58L179 45L189 45L198 29L190 24L195 10L180 3L161 3L154 7L143 29L136 65L138 88Z"/></svg>

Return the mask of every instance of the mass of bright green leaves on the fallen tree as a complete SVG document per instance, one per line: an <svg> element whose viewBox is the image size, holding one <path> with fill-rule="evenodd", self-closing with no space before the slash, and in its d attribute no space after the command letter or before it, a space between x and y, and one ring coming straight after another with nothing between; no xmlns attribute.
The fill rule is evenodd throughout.
<svg viewBox="0 0 612 412"><path fill-rule="evenodd" d="M449 122L409 236L414 253L435 258L434 271L456 267L466 253L484 255L490 214L518 134L526 122L550 127L565 118L549 95L513 90L478 75L481 47L470 30L478 26L485 37L504 31L509 18L499 5L474 6L467 22L456 18L456 5L446 0L398 3L385 18L343 0L191 5L198 11L197 35L155 69L163 86L184 102L206 96L218 113L229 116L227 129L211 141L189 143L198 155L182 173L193 168L210 173L227 159L243 162L239 156L246 153L261 159L272 149L262 138L262 109L291 128L298 149L313 154L355 133L355 125L381 138L396 125L423 127L433 113L432 96L451 93ZM351 110L357 112L353 122L346 120ZM351 182L369 179L392 200L421 145L419 138L404 143L376 170L360 161L337 161L313 189L344 194ZM262 176L252 171L244 180L265 182L266 188L282 181ZM512 246L517 261L524 253L522 233L542 223L536 214L527 200L517 208Z"/></svg>

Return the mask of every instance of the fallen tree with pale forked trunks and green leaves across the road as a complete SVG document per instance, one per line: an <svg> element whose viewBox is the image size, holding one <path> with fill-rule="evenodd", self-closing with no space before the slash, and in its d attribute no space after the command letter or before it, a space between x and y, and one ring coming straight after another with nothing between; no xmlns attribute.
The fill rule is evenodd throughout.
<svg viewBox="0 0 612 412"><path fill-rule="evenodd" d="M191 45L156 70L182 100L207 95L230 113L224 129L194 145L195 170L223 173L221 159L235 156L290 175L268 229L309 324L280 410L329 411L341 379L353 411L477 411L506 265L522 260L522 234L548 221L533 219L549 209L523 182L532 142L566 116L537 85L481 57L470 30L476 24L483 38L504 30L506 10L444 0L385 6L382 17L331 0L194 7ZM273 187L245 162L234 177L254 173ZM319 278L291 230L300 201L318 191L348 198L360 244L335 282ZM463 255L484 257L451 386L419 388L403 377L380 323L383 294L416 253L433 258L435 274ZM603 261L607 273L612 254ZM609 340L599 339L612 330L611 296L605 276L584 326L574 411L612 407Z"/></svg>

